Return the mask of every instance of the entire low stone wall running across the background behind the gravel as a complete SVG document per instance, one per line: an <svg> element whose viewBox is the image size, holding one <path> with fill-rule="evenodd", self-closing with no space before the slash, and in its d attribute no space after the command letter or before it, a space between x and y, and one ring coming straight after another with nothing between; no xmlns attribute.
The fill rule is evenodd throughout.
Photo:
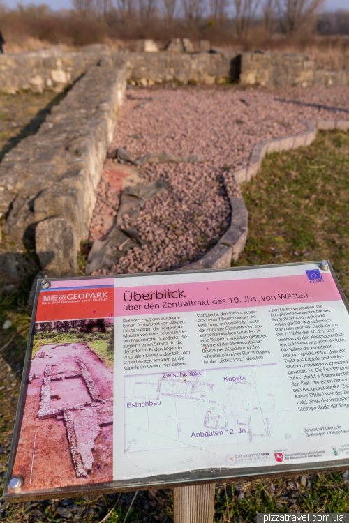
<svg viewBox="0 0 349 523"><path fill-rule="evenodd" d="M62 91L98 63L125 63L131 83L148 86L176 81L214 84L226 81L263 86L349 85L349 71L315 69L303 53L255 52L112 52L106 45L90 45L79 52L59 48L0 56L0 89Z"/></svg>

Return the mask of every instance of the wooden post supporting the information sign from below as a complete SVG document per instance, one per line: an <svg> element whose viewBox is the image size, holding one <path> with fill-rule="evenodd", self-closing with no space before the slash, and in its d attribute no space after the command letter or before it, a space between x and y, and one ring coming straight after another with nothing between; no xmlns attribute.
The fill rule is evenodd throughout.
<svg viewBox="0 0 349 523"><path fill-rule="evenodd" d="M173 489L174 523L213 523L215 484Z"/></svg>

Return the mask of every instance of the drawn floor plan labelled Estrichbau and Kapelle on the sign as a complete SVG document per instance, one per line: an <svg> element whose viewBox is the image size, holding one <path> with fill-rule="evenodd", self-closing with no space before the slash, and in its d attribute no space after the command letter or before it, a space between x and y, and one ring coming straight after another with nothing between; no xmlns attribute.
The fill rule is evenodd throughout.
<svg viewBox="0 0 349 523"><path fill-rule="evenodd" d="M125 453L295 437L276 365L124 377Z"/></svg>

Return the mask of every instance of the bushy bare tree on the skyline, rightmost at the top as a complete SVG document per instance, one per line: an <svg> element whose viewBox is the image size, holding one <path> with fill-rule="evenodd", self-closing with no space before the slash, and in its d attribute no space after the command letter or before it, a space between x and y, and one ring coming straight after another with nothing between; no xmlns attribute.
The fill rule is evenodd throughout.
<svg viewBox="0 0 349 523"><path fill-rule="evenodd" d="M315 15L324 0L277 0L281 28L294 34L315 24Z"/></svg>

